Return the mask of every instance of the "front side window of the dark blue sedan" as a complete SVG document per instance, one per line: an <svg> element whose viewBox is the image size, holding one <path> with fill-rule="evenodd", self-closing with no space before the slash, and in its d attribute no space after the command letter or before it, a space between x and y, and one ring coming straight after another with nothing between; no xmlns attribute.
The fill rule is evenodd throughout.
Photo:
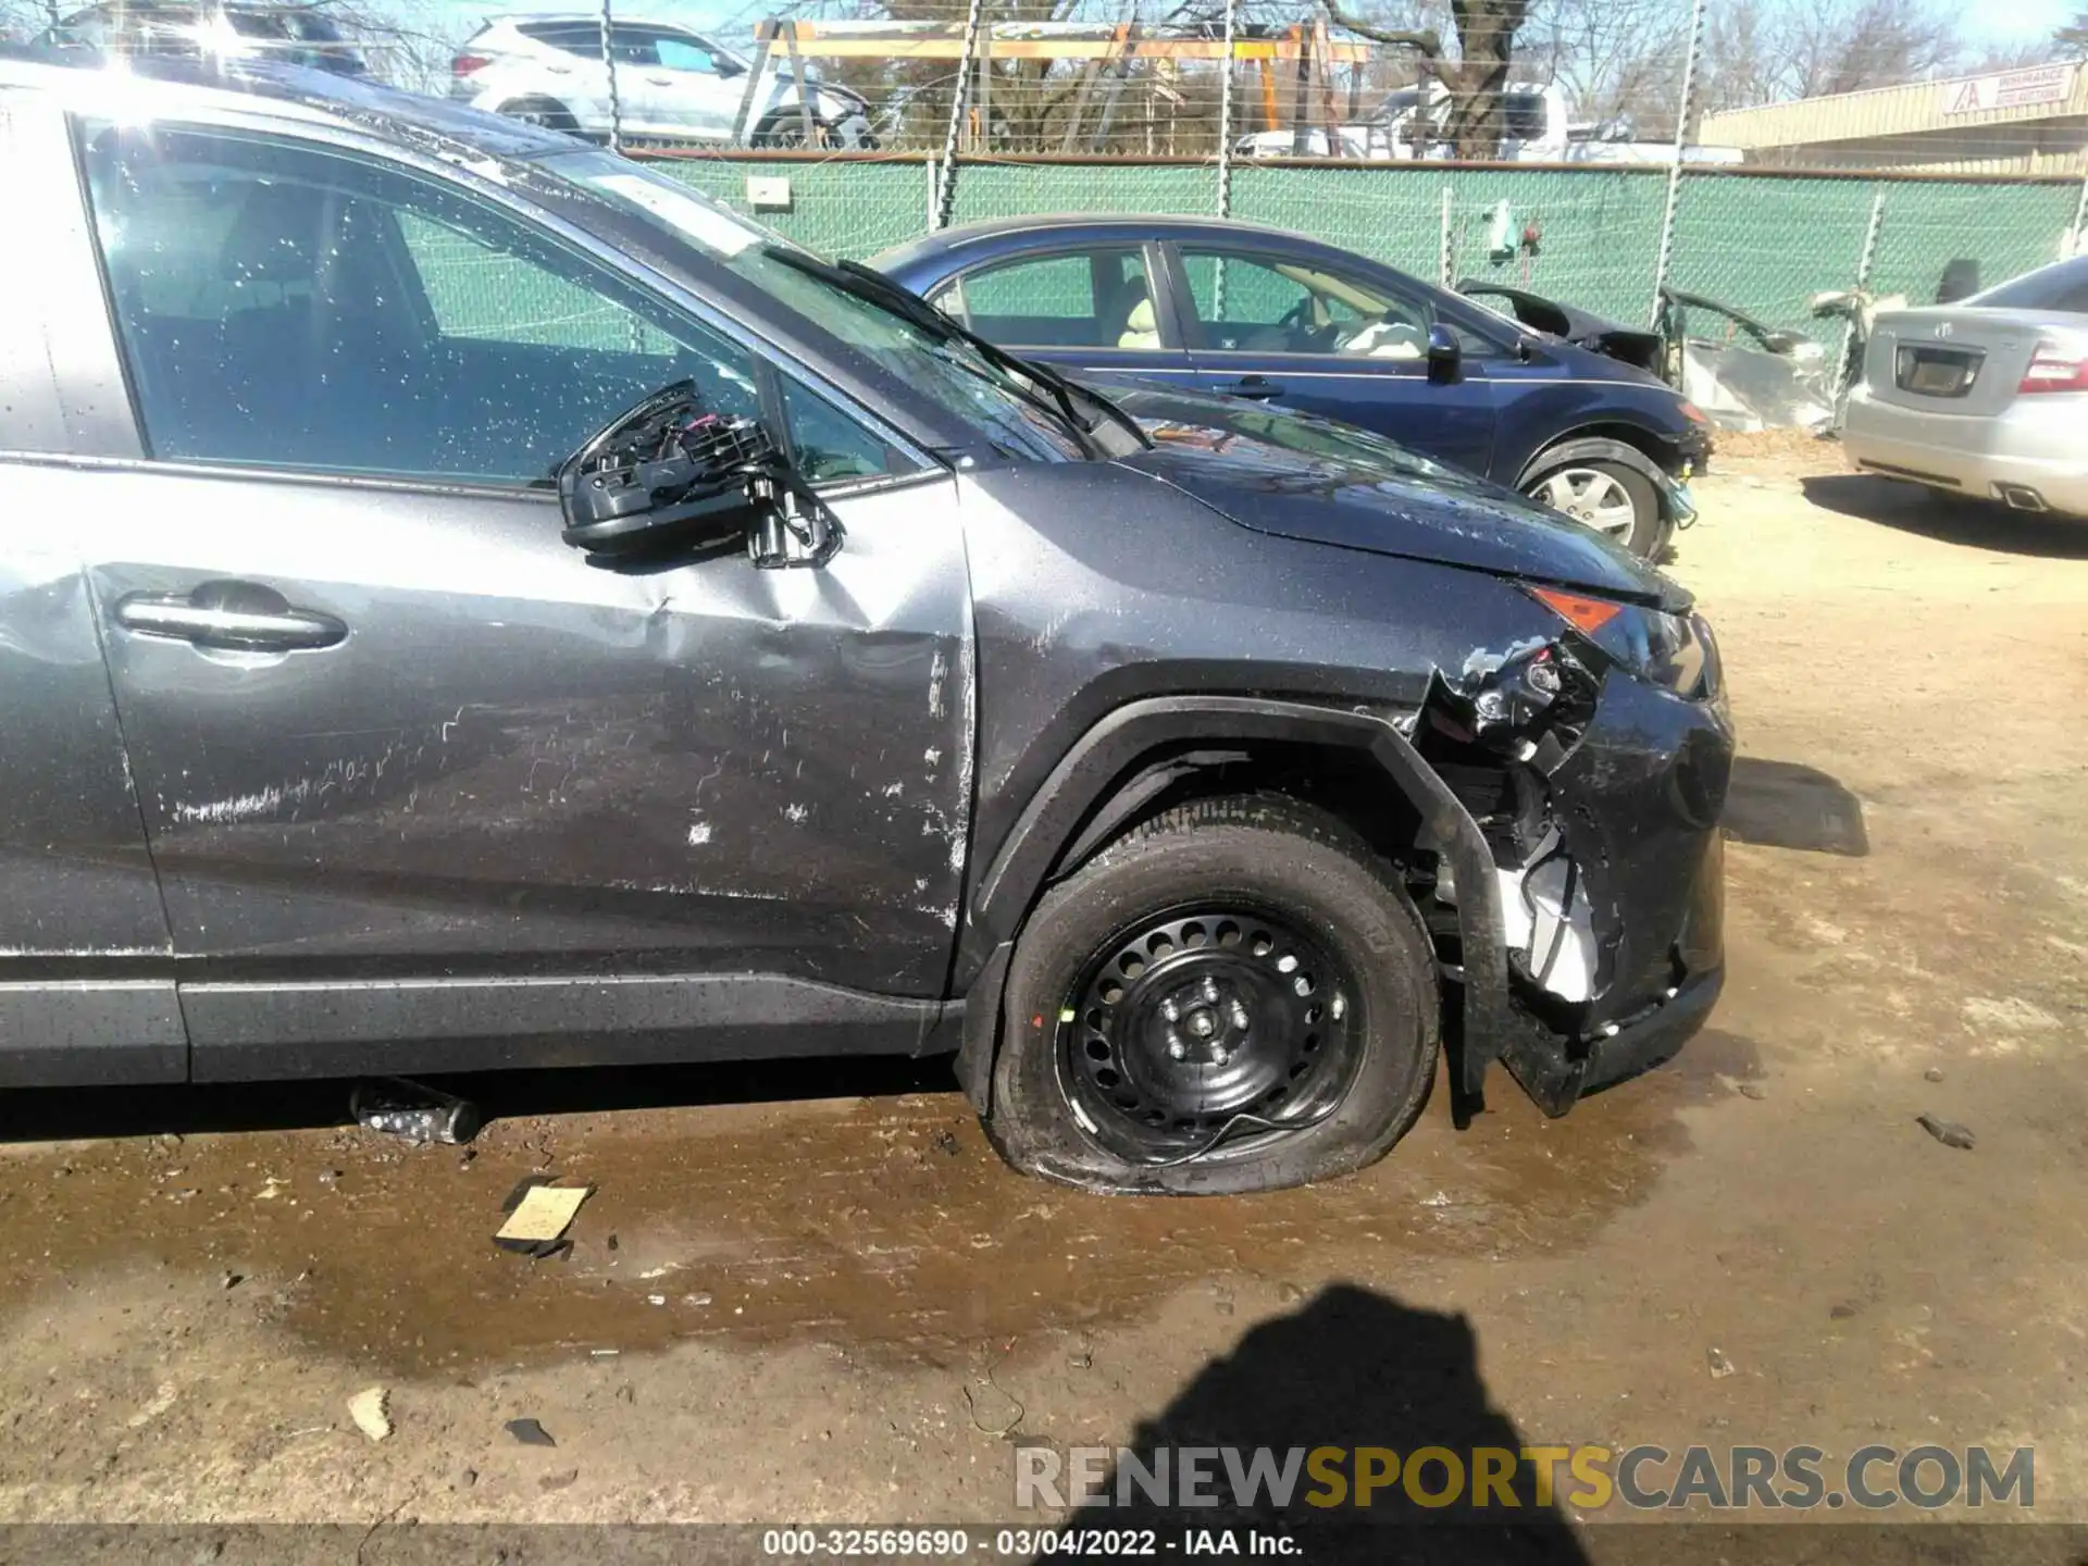
<svg viewBox="0 0 2088 1566"><path fill-rule="evenodd" d="M1205 349L1424 359L1434 311L1380 282L1213 248L1184 248L1190 307Z"/></svg>

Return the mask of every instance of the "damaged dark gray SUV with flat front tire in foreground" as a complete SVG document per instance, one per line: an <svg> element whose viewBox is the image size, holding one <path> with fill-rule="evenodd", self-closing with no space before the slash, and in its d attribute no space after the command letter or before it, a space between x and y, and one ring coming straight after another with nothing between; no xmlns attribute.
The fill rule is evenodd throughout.
<svg viewBox="0 0 2088 1566"><path fill-rule="evenodd" d="M1712 1004L1718 660L1593 532L528 125L0 71L0 1082L954 1052L1209 1192Z"/></svg>

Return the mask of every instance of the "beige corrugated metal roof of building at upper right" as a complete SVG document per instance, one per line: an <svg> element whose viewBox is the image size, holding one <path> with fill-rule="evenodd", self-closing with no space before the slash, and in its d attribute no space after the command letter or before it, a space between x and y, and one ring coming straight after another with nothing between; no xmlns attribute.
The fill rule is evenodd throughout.
<svg viewBox="0 0 2088 1566"><path fill-rule="evenodd" d="M2059 79L2032 79L2040 73L2046 77L2059 73ZM2025 102L2023 98L2044 100ZM1873 136L2019 125L2069 115L2088 115L2088 61L1729 109L1704 115L1698 140L1706 146L1741 148L1808 146Z"/></svg>

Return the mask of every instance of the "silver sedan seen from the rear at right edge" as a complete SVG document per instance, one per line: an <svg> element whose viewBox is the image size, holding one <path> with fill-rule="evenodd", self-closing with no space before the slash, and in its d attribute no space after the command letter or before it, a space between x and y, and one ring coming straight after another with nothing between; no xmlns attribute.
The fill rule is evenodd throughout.
<svg viewBox="0 0 2088 1566"><path fill-rule="evenodd" d="M1862 472L2088 516L2088 255L1879 315L1842 441Z"/></svg>

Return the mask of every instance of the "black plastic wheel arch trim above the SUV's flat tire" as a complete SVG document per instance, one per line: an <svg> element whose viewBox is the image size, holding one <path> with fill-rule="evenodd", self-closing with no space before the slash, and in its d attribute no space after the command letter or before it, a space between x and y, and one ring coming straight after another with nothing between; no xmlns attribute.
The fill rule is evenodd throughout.
<svg viewBox="0 0 2088 1566"><path fill-rule="evenodd" d="M1161 695L1128 702L1090 727L1029 798L971 898L971 935L988 948L965 996L956 1073L981 1115L992 1113L994 1054L1004 1027L1002 996L1015 938L1044 887L1069 862L1107 841L1100 823L1128 825L1142 789L1165 768L1119 779L1140 758L1176 745L1221 752L1240 741L1340 745L1366 752L1416 812L1416 846L1443 854L1457 875L1464 983L1451 1029L1451 1071L1466 1109L1482 1100L1487 1067L1516 1034L1508 998L1508 950L1493 852L1478 823L1422 760L1391 716L1244 695ZM1178 758L1180 760L1180 758ZM1464 1119L1464 1111L1460 1111Z"/></svg>

